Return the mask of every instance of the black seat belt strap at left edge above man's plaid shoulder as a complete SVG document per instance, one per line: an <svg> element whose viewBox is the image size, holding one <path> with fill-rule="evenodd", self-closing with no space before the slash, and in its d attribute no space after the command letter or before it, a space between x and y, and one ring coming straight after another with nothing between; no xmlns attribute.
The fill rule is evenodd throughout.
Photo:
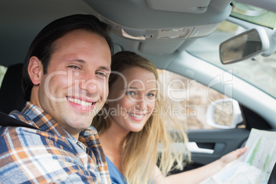
<svg viewBox="0 0 276 184"><path fill-rule="evenodd" d="M27 127L27 128L33 128L36 130L40 130L39 128L36 128L35 126L26 124L25 122L21 122L19 119L14 119L13 117L10 117L2 112L0 112L0 126L21 126L21 127Z"/></svg>

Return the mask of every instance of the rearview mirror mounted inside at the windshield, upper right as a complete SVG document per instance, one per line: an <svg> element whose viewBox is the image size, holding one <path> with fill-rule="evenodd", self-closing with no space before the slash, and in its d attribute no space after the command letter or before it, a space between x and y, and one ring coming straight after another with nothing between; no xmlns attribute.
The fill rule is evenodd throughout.
<svg viewBox="0 0 276 184"><path fill-rule="evenodd" d="M239 62L264 53L269 48L269 39L262 27L255 27L220 43L222 64Z"/></svg>

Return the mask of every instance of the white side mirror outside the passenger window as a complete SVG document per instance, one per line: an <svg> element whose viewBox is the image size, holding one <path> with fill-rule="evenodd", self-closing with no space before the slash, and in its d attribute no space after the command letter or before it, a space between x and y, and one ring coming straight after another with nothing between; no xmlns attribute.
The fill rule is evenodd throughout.
<svg viewBox="0 0 276 184"><path fill-rule="evenodd" d="M232 98L211 102L206 113L207 124L214 128L236 128L243 122L238 101Z"/></svg>

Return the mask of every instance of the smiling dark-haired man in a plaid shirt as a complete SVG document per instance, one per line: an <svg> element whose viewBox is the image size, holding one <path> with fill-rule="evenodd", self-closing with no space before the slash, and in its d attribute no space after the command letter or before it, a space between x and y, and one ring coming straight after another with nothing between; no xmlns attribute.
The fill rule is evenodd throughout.
<svg viewBox="0 0 276 184"><path fill-rule="evenodd" d="M0 183L111 183L95 128L108 95L109 27L76 14L34 38L23 67L25 108L10 116L40 130L0 128Z"/></svg>

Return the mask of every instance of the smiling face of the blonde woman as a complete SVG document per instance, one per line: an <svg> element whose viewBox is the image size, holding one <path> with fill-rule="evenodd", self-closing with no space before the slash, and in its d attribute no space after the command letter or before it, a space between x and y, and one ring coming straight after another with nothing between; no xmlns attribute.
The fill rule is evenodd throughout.
<svg viewBox="0 0 276 184"><path fill-rule="evenodd" d="M155 106L157 82L154 73L141 67L122 72L108 95L108 115L114 128L126 133L139 132Z"/></svg>

